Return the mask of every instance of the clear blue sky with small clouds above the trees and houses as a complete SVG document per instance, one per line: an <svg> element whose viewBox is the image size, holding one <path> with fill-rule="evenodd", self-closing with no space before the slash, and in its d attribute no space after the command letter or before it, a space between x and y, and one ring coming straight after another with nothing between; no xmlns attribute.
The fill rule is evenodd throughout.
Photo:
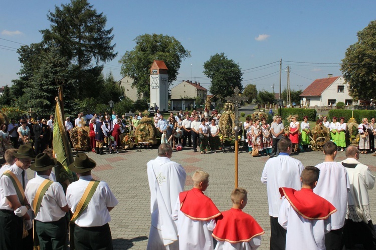
<svg viewBox="0 0 376 250"><path fill-rule="evenodd" d="M20 44L40 42L39 30L49 28L48 11L70 1L3 1L0 8L0 86L17 79L21 64L15 52ZM201 82L204 62L216 53L225 55L244 70L243 85L279 92L279 60L282 89L304 89L328 74L341 75L338 65L356 33L375 19L376 1L90 1L107 16L113 27L117 58L105 64L120 80L119 59L145 33L175 37L191 51L181 63L177 81ZM10 41L13 42L10 42ZM17 42L17 43L14 43ZM313 64L315 63L315 64ZM266 65L266 66L263 66ZM259 67L262 66L262 67ZM256 68L258 67L258 68ZM250 70L249 70L250 69ZM191 73L192 72L192 73ZM192 78L191 78L192 76ZM300 86L299 86L300 85Z"/></svg>

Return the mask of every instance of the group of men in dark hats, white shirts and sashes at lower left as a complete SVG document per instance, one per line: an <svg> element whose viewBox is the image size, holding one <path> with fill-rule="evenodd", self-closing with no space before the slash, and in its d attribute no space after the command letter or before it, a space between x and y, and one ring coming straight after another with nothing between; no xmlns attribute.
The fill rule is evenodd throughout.
<svg viewBox="0 0 376 250"><path fill-rule="evenodd" d="M118 201L106 182L93 179L94 160L78 153L68 168L79 179L65 185L54 178L52 169L60 163L48 149L35 155L30 145L21 145L8 149L5 159L0 169L0 249L64 250L68 242L70 249L113 249L109 212ZM29 167L36 172L31 180L25 174Z"/></svg>

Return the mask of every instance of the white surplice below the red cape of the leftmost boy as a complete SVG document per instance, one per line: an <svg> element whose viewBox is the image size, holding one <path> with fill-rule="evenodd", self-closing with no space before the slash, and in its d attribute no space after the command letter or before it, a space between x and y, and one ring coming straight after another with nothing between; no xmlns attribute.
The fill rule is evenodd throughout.
<svg viewBox="0 0 376 250"><path fill-rule="evenodd" d="M177 198L172 211L172 219L177 220L180 250L213 250L212 231L216 226L216 219L195 220L180 211L180 200Z"/></svg>

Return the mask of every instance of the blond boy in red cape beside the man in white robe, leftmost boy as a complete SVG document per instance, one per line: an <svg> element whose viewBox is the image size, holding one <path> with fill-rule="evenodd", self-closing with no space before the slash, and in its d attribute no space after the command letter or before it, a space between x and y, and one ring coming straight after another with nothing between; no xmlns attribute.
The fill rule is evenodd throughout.
<svg viewBox="0 0 376 250"><path fill-rule="evenodd" d="M179 249L213 250L212 231L215 218L221 215L213 201L204 194L209 186L209 174L196 170L192 176L193 188L177 198L172 219L177 220Z"/></svg>

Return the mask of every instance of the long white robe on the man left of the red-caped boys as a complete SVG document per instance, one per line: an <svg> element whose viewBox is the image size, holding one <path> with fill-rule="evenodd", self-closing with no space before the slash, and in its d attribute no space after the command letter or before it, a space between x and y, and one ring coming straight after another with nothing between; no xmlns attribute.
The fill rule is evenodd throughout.
<svg viewBox="0 0 376 250"><path fill-rule="evenodd" d="M178 249L176 221L171 214L179 193L184 190L184 168L168 157L147 163L150 187L151 226L147 249Z"/></svg>

